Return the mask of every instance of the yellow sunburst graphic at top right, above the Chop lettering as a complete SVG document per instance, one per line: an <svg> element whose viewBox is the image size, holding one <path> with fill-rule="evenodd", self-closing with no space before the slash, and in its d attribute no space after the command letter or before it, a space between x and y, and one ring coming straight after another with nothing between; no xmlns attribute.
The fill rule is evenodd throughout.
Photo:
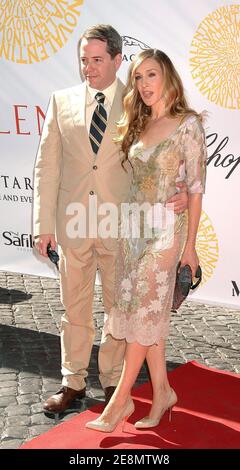
<svg viewBox="0 0 240 470"><path fill-rule="evenodd" d="M211 102L240 109L240 5L225 5L200 23L191 43L190 68Z"/></svg>

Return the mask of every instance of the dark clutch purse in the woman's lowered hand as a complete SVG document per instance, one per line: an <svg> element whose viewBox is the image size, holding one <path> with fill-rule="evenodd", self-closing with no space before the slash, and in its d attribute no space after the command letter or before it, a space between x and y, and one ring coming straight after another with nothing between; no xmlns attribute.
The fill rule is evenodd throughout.
<svg viewBox="0 0 240 470"><path fill-rule="evenodd" d="M180 263L177 265L177 275L176 275L176 282L173 294L173 304L172 310L177 310L181 303L186 299L189 294L190 289L196 289L196 287L200 284L202 280L202 270L201 267L198 266L195 278L197 281L193 283L192 280L192 271L188 264L182 266L179 269Z"/></svg>

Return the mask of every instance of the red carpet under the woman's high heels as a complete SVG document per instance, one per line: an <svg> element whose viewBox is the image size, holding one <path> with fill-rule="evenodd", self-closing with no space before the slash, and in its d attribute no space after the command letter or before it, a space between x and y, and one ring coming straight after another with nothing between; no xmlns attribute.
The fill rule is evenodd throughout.
<svg viewBox="0 0 240 470"><path fill-rule="evenodd" d="M240 448L240 376L188 362L169 374L178 395L172 422L165 413L156 428L136 430L148 414L151 388L133 392L136 410L122 432L85 428L103 409L97 405L22 445L22 449L234 449Z"/></svg>

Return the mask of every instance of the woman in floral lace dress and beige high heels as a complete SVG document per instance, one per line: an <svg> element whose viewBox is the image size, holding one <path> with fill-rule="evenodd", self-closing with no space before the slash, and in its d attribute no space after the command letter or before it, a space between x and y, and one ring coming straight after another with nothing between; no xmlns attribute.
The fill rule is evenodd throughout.
<svg viewBox="0 0 240 470"><path fill-rule="evenodd" d="M121 217L115 304L104 333L125 338L127 347L114 395L101 416L87 423L104 432L113 431L134 411L131 388L145 359L152 405L149 415L135 426L156 426L177 401L167 378L165 340L176 266L179 260L189 264L193 276L198 266L195 242L206 173L201 116L188 107L181 79L162 51L143 51L131 64L118 127L133 181L128 223L126 215ZM183 179L188 213L174 214L165 203ZM140 206L145 210L138 212Z"/></svg>

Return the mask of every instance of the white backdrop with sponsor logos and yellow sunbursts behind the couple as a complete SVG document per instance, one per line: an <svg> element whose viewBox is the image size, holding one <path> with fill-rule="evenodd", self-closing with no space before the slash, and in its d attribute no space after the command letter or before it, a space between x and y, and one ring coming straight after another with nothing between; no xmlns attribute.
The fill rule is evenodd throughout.
<svg viewBox="0 0 240 470"><path fill-rule="evenodd" d="M76 46L95 23L124 37L126 80L146 47L176 65L190 104L207 110L207 190L198 234L204 282L192 296L240 307L240 5L222 0L0 0L0 269L55 276L32 251L32 174L49 96L80 81Z"/></svg>

